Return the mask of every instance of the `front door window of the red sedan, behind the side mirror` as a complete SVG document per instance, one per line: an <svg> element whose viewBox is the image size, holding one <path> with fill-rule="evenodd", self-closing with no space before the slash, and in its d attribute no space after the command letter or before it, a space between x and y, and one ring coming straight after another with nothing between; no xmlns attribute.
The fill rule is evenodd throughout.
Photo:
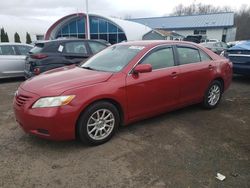
<svg viewBox="0 0 250 188"><path fill-rule="evenodd" d="M172 48L164 48L148 55L142 62L151 64L152 69L161 69L174 66L174 55Z"/></svg>

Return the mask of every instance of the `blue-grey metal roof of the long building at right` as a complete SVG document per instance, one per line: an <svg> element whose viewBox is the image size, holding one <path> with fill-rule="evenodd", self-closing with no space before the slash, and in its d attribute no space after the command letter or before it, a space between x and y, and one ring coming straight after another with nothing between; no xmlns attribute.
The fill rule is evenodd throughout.
<svg viewBox="0 0 250 188"><path fill-rule="evenodd" d="M135 18L130 21L144 24L158 29L192 29L192 28L216 28L232 27L234 25L234 13L223 12L214 14L199 14L191 16L167 16L151 18Z"/></svg>

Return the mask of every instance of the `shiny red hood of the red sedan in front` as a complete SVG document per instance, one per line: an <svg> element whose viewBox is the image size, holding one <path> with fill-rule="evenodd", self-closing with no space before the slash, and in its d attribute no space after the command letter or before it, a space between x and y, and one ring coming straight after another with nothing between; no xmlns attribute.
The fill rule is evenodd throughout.
<svg viewBox="0 0 250 188"><path fill-rule="evenodd" d="M40 96L56 96L64 91L107 81L112 73L68 66L47 71L25 81L20 87Z"/></svg>

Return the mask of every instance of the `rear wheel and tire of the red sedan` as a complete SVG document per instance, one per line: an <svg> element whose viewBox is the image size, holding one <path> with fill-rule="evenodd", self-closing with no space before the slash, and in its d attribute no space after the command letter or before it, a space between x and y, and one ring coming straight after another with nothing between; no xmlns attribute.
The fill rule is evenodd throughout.
<svg viewBox="0 0 250 188"><path fill-rule="evenodd" d="M222 96L222 84L220 81L214 80L210 84L204 96L203 107L207 109L215 108L219 104L221 96Z"/></svg>

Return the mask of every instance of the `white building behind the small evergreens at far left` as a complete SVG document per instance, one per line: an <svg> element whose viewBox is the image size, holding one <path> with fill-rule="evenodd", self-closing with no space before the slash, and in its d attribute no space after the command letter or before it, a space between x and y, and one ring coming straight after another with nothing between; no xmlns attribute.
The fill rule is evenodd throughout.
<svg viewBox="0 0 250 188"><path fill-rule="evenodd" d="M32 41L44 39L44 34L51 24L51 21L35 18L0 15L0 28L3 27L7 32L10 42L14 42L15 32L19 34L22 43L26 42L26 32L30 34Z"/></svg>

